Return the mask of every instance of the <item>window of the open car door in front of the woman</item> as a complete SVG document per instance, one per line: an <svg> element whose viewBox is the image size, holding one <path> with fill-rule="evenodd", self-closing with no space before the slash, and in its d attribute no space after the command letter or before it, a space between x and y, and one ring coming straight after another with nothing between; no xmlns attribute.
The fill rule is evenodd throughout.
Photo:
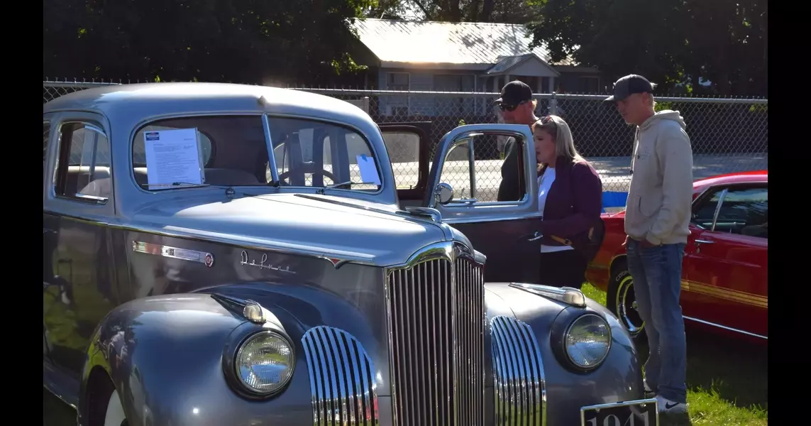
<svg viewBox="0 0 811 426"><path fill-rule="evenodd" d="M523 157L521 148L518 150L516 170L506 170L504 186L512 193L518 193L515 200L500 202L499 189L502 185L502 165L497 148L498 136L472 135L457 140L445 155L440 175L440 182L448 183L453 187L453 204L516 204L526 196L526 184L518 164ZM509 166L513 166L512 162ZM512 197L511 197L512 198Z"/></svg>

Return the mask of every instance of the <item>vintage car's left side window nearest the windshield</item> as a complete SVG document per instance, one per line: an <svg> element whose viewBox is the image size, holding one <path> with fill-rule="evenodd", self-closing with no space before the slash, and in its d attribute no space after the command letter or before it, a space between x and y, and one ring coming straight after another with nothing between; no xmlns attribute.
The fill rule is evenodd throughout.
<svg viewBox="0 0 811 426"><path fill-rule="evenodd" d="M56 195L104 203L111 192L109 140L90 123L64 123L59 129Z"/></svg>

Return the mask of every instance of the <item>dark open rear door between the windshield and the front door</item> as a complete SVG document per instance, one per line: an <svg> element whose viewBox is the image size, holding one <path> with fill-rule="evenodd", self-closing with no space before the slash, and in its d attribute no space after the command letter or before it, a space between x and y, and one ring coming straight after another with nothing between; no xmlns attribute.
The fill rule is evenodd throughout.
<svg viewBox="0 0 811 426"><path fill-rule="evenodd" d="M401 209L423 205L428 189L431 122L380 123Z"/></svg>

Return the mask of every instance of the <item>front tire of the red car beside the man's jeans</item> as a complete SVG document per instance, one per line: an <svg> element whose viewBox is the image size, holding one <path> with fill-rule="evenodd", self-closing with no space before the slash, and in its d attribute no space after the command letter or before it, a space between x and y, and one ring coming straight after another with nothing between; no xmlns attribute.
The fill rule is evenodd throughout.
<svg viewBox="0 0 811 426"><path fill-rule="evenodd" d="M639 316L636 308L636 295L633 291L633 277L625 260L619 260L611 267L611 279L608 281L606 305L628 330L634 342L645 342L645 321Z"/></svg>

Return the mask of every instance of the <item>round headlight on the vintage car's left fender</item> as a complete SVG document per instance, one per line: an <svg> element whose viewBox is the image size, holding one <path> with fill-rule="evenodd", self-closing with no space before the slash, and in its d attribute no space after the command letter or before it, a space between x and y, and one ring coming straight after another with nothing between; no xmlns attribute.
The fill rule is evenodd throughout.
<svg viewBox="0 0 811 426"><path fill-rule="evenodd" d="M255 394L272 394L293 376L293 345L277 333L262 331L239 346L234 368L242 385Z"/></svg>

